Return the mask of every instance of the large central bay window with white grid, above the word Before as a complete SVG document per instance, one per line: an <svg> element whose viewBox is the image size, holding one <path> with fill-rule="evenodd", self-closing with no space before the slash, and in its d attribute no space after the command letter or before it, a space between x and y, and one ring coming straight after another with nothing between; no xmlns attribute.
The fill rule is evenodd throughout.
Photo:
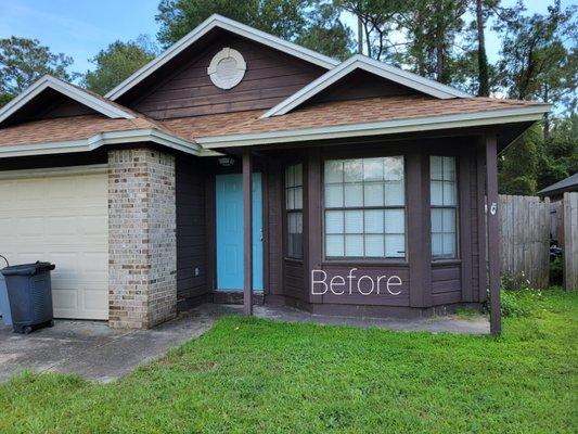
<svg viewBox="0 0 578 434"><path fill-rule="evenodd" d="M325 162L325 257L406 257L403 171L402 156Z"/></svg>

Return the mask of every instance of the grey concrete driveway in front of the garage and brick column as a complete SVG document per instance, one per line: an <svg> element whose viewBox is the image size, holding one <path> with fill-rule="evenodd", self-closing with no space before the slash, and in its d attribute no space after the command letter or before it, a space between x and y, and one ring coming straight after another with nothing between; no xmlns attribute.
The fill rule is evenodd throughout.
<svg viewBox="0 0 578 434"><path fill-rule="evenodd" d="M153 330L112 330L104 321L56 320L52 329L28 335L0 326L0 381L23 369L78 373L107 382L130 373L174 346L197 337L231 312L204 305Z"/></svg>

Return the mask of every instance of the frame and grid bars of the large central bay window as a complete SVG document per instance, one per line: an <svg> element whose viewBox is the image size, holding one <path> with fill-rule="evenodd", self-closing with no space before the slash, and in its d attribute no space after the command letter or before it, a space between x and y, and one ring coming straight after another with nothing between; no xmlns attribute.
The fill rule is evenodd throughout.
<svg viewBox="0 0 578 434"><path fill-rule="evenodd" d="M400 157L401 158L401 162L402 162L402 165L403 165L403 180L402 180L402 189L403 189L403 205L377 205L377 206L363 206L363 205L360 205L360 206L345 206L345 186L347 184L347 182L342 182L342 184L344 186L344 191L343 191L343 203L344 203L344 206L343 207L327 207L325 206L325 165L327 164L327 162L331 162L331 161L347 161L347 159L370 159L370 158L387 158L387 157ZM363 155L359 155L359 154L346 154L346 155L339 155L339 154L336 154L336 155L325 155L323 158L321 158L321 162L320 162L320 190L321 190L321 194L320 194L320 197L321 197L321 238L322 238L322 246L321 246L321 250L322 250L322 260L324 264L370 264L370 265L377 265L377 264L388 264L388 265L391 265L391 264L403 264L403 265L407 265L408 264L408 182L407 182L407 179L408 179L408 167L407 167L407 156L406 154L401 153L401 152L395 152L395 153L387 153L387 154L384 154L383 152L380 152L380 153L370 153L370 154L363 154ZM375 181L370 181L370 183L372 182L375 182ZM386 183L387 181L384 181L384 184ZM360 182L362 188L364 186L365 182L361 181ZM350 210L358 210L358 212L361 212L363 213L363 210L387 210L387 209L401 209L403 212L403 256L398 256L398 257L388 257L388 256L327 256L326 254L326 225L325 225L325 215L326 215L326 212L327 210L341 210L341 212L344 212L344 215L346 212L350 212ZM384 219L385 219L385 216L384 216ZM386 233L385 231L383 233L373 233L373 232L369 232L369 233L365 233L365 219L364 219L364 214L363 214L363 219L362 219L362 225L363 225L363 232L361 233L354 233L355 235L361 235L361 237L365 237L365 235L371 235L371 234L376 234L376 235L383 235L384 237L384 241L385 241L385 237L388 234ZM347 232L345 232L345 221L344 221L344 232L341 233L343 237L344 237L344 254L345 254L345 235L348 234ZM400 233L390 233L390 234L400 234ZM364 241L363 241L364 243ZM364 244L363 244L364 245ZM385 245L384 245L384 255L385 255Z"/></svg>

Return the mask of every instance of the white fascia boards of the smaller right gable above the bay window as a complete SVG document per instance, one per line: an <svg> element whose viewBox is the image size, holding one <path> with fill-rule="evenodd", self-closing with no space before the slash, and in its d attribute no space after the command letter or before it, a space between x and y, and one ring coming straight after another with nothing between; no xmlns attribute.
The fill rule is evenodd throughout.
<svg viewBox="0 0 578 434"><path fill-rule="evenodd" d="M337 80L344 78L356 69L363 69L376 76L389 79L409 88L415 89L425 94L436 97L439 99L451 98L472 98L471 94L462 92L461 90L441 85L437 81L429 80L408 71L400 69L395 66L386 65L383 62L375 61L364 55L354 55L341 65L326 72L321 77L311 81L309 85L281 101L274 107L267 111L261 117L271 117L284 115L303 104L305 101L311 99Z"/></svg>

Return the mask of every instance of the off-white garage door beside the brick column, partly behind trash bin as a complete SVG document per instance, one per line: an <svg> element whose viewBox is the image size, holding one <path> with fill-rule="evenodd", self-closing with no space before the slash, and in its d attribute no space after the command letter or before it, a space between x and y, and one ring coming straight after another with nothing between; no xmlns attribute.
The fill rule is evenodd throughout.
<svg viewBox="0 0 578 434"><path fill-rule="evenodd" d="M56 265L56 318L108 318L107 197L102 167L0 173L0 255Z"/></svg>

